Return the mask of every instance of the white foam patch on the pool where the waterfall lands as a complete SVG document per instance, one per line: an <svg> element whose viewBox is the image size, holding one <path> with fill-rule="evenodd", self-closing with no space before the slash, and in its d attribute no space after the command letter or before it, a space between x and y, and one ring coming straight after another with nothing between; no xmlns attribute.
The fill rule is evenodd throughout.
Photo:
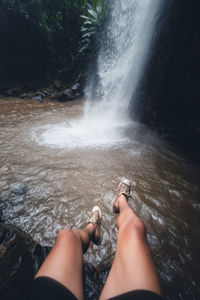
<svg viewBox="0 0 200 300"><path fill-rule="evenodd" d="M53 148L116 148L128 143L129 138L124 135L127 123L113 122L112 126L109 123L109 119L75 119L35 128L32 137L40 145Z"/></svg>

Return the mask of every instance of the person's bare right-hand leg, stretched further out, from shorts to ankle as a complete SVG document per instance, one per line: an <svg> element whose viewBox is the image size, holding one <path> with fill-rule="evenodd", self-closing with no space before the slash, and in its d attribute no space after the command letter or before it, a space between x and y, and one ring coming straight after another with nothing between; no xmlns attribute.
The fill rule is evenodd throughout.
<svg viewBox="0 0 200 300"><path fill-rule="evenodd" d="M117 249L100 299L137 289L150 290L160 295L159 279L147 244L144 224L131 209L125 196L118 198L118 205Z"/></svg>

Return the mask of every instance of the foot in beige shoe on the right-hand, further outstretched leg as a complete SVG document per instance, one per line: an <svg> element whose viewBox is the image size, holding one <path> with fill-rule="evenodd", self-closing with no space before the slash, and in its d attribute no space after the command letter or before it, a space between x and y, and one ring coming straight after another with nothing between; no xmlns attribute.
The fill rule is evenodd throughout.
<svg viewBox="0 0 200 300"><path fill-rule="evenodd" d="M117 188L117 196L115 198L115 201L113 203L113 211L115 214L119 213L119 197L125 196L126 200L128 201L128 198L130 197L130 191L131 191L131 182L128 179L123 179L118 188Z"/></svg>

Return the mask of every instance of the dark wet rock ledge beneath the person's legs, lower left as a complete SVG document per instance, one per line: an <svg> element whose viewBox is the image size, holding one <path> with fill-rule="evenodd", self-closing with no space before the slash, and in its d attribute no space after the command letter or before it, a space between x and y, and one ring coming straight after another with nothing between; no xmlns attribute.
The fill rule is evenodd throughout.
<svg viewBox="0 0 200 300"><path fill-rule="evenodd" d="M0 299L28 299L34 274L50 252L13 225L0 223ZM84 266L85 299L98 299L101 280L92 265Z"/></svg>

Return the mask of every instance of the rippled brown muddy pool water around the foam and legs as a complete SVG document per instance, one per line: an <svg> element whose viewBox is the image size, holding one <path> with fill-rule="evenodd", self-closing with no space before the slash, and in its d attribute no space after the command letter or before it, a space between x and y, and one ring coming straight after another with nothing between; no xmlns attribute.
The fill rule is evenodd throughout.
<svg viewBox="0 0 200 300"><path fill-rule="evenodd" d="M59 130L64 130L65 122L78 122L83 106L83 100L0 100L4 222L52 246L59 230L85 225L92 207L99 205L103 241L98 247L91 245L85 261L105 281L117 238L112 202L125 176L133 184L130 204L147 226L165 298L200 299L199 171L137 123L123 132L125 139L109 147L107 142L100 146L91 140L83 143L81 136L80 147L79 138L70 145L66 134L58 137ZM42 133L52 126L57 126L54 137L50 136L52 142L45 143ZM57 138L59 146L54 143Z"/></svg>

